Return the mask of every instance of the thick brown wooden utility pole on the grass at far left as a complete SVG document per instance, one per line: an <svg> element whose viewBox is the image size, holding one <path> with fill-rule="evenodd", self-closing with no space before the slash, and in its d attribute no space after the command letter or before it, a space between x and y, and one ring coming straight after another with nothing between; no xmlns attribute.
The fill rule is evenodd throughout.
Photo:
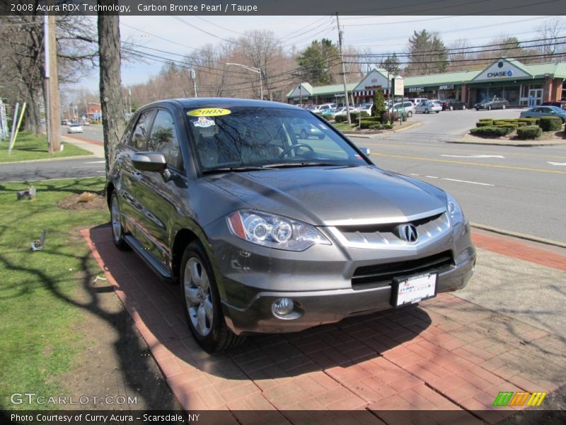
<svg viewBox="0 0 566 425"><path fill-rule="evenodd" d="M61 150L59 134L59 82L57 81L57 44L55 43L55 16L46 15L45 30L45 92L47 93L47 143L49 152Z"/></svg>

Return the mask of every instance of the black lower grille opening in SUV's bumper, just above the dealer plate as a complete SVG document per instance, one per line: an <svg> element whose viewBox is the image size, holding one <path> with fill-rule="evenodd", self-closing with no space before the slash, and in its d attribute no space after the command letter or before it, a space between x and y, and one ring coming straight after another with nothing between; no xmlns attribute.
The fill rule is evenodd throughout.
<svg viewBox="0 0 566 425"><path fill-rule="evenodd" d="M391 283L395 277L408 276L423 271L446 271L454 264L452 251L423 257L422 259L395 261L358 267L352 276L352 287L371 283Z"/></svg>

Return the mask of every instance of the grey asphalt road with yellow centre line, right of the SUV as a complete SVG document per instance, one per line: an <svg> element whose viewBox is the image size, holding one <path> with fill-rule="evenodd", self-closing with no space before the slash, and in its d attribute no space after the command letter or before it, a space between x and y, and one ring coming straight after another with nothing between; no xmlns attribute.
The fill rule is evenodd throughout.
<svg viewBox="0 0 566 425"><path fill-rule="evenodd" d="M454 143L475 120L518 110L415 115L422 125L373 139L374 163L454 195L472 222L566 242L566 145L507 147Z"/></svg>

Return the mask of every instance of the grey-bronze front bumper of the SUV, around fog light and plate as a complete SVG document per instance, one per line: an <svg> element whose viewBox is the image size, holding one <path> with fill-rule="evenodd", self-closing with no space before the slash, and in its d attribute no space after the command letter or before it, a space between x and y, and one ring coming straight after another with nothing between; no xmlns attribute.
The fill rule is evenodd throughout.
<svg viewBox="0 0 566 425"><path fill-rule="evenodd" d="M359 266L387 265L451 251L453 263L439 270L438 293L463 288L475 266L469 227L463 225L434 244L409 253L346 249L335 240L332 246L315 245L304 252L290 252L253 245L224 232L209 233L209 237L218 260L214 267L226 324L239 335L301 331L393 308L391 281L352 285L352 273ZM281 319L272 314L272 303L282 297L294 301L298 318Z"/></svg>

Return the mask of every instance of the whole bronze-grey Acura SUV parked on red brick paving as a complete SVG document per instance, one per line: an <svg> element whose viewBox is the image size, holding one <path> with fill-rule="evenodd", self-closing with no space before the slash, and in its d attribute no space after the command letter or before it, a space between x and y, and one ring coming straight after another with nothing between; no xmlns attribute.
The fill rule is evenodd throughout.
<svg viewBox="0 0 566 425"><path fill-rule="evenodd" d="M282 103L146 105L112 153L107 189L115 244L180 283L208 351L414 305L463 288L474 270L452 196L380 169Z"/></svg>

